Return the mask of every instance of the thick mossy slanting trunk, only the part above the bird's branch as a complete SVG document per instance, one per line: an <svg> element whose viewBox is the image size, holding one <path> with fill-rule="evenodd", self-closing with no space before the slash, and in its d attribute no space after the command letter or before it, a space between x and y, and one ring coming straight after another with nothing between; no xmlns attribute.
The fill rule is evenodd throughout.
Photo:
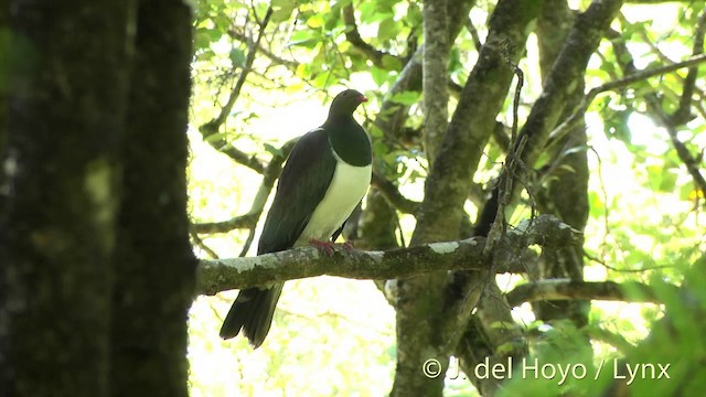
<svg viewBox="0 0 706 397"><path fill-rule="evenodd" d="M425 186L425 202L415 242L453 237L462 217L463 202L482 149L495 128L495 117L507 94L513 73L501 60L500 44L524 47L528 25L538 13L536 1L501 1L490 21L490 33L479 61L463 87L437 161ZM514 54L520 60L522 51Z"/></svg>

